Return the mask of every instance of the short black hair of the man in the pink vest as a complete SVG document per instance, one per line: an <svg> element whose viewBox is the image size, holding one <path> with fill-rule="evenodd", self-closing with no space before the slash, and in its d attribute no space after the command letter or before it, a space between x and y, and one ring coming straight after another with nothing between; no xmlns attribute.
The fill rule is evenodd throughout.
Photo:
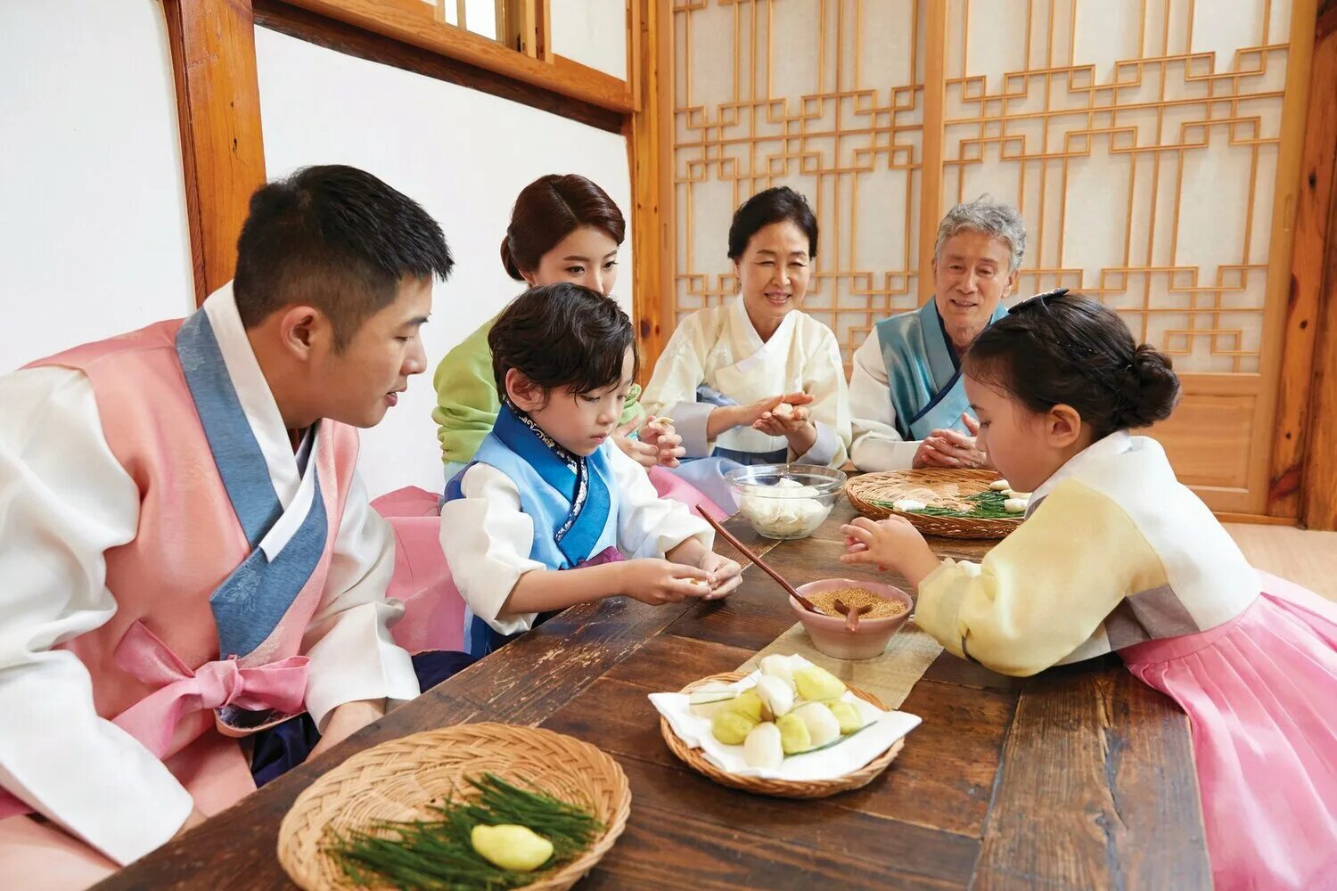
<svg viewBox="0 0 1337 891"><path fill-rule="evenodd" d="M441 227L417 202L356 167L303 167L251 195L233 293L246 327L314 306L342 350L394 302L401 279L445 279L452 266Z"/></svg>

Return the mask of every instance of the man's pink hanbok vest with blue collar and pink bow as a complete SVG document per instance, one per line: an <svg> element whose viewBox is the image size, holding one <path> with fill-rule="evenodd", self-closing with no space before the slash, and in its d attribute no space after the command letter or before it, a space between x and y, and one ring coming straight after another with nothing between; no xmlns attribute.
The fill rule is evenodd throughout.
<svg viewBox="0 0 1337 891"><path fill-rule="evenodd" d="M205 313L179 338L182 329L179 319L159 322L33 365L87 375L107 443L140 493L134 541L106 553L116 613L62 647L88 668L98 713L163 759L207 815L255 788L229 737L303 709L302 636L321 600L358 441L352 427L321 421L303 474L314 472L316 489L303 496L303 480L285 512L267 470L245 460L258 446L221 354L210 353L218 347ZM215 461L219 452L237 456L247 435L255 454ZM247 498L249 512L238 505ZM291 512L302 525L266 557L257 545ZM253 621L258 601L267 608ZM16 850L24 862L43 860L31 875L45 886L87 884L115 868L52 824L21 816L28 810L0 791L7 882L28 887L29 874L12 863ZM57 860L70 867L66 880Z"/></svg>

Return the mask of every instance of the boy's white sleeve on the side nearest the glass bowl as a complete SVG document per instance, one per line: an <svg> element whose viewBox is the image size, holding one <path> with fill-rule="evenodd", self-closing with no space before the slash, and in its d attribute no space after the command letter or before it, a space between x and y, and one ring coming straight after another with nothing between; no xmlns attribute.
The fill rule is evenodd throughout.
<svg viewBox="0 0 1337 891"><path fill-rule="evenodd" d="M618 550L623 556L663 557L689 538L710 549L715 532L705 520L693 516L681 501L660 498L644 468L622 449L604 448L618 482Z"/></svg>

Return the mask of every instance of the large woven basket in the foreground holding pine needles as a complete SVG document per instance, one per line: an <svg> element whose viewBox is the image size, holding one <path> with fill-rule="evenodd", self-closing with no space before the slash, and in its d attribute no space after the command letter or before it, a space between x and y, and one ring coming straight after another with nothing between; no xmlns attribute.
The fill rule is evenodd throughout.
<svg viewBox="0 0 1337 891"><path fill-rule="evenodd" d="M618 840L631 812L627 776L594 745L535 727L457 724L381 743L316 780L278 828L278 860L308 891L358 887L322 850L328 828L431 818L427 804L468 788L464 777L484 772L587 807L606 827L578 859L536 872L528 890L575 884Z"/></svg>

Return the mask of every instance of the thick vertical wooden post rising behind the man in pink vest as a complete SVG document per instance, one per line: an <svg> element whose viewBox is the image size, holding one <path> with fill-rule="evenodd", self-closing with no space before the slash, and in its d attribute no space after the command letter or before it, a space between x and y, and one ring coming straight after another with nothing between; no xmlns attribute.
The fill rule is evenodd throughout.
<svg viewBox="0 0 1337 891"><path fill-rule="evenodd" d="M250 0L163 0L176 81L186 210L203 303L233 278L237 236L265 184Z"/></svg>

